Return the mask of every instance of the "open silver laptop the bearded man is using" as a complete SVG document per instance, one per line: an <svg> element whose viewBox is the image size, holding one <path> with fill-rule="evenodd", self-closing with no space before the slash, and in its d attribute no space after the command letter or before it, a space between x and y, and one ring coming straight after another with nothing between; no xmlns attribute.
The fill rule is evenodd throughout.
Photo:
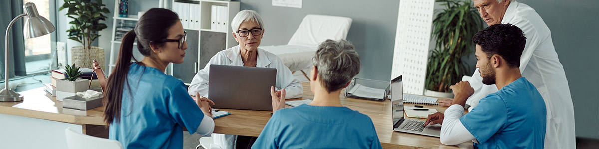
<svg viewBox="0 0 599 149"><path fill-rule="evenodd" d="M425 120L404 117L404 92L401 76L391 80L391 114L393 116L393 130L412 134L437 136L441 134L441 125L428 125L423 127Z"/></svg>

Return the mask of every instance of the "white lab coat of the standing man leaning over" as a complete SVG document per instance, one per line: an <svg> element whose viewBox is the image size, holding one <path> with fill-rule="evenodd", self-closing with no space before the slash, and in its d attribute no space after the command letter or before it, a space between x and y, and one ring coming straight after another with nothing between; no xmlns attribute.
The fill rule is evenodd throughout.
<svg viewBox="0 0 599 149"><path fill-rule="evenodd" d="M526 36L520 58L522 77L537 88L547 108L547 126L544 148L576 148L574 140L574 108L564 67L551 41L549 28L533 8L513 1L506 10L501 24L518 26ZM468 81L474 95L467 104L476 107L481 98L497 92L495 85L483 85L479 70ZM470 110L471 110L470 108Z"/></svg>

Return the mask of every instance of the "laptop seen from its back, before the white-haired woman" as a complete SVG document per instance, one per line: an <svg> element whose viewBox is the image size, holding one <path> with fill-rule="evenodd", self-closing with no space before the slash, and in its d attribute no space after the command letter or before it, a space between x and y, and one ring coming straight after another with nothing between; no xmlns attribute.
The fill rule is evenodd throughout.
<svg viewBox="0 0 599 149"><path fill-rule="evenodd" d="M274 86L277 69L210 65L208 98L213 108L271 111L270 86Z"/></svg>

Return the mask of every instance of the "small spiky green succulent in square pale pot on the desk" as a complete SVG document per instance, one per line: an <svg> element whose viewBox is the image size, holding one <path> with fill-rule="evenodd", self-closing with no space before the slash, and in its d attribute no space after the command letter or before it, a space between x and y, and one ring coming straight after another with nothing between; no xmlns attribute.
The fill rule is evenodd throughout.
<svg viewBox="0 0 599 149"><path fill-rule="evenodd" d="M58 80L56 82L56 91L65 92L63 97L56 97L57 100L62 101L62 98L71 97L77 95L77 92L85 92L89 89L89 80L80 79L83 73L79 70L81 67L76 67L75 64L72 66L66 65L65 79ZM62 94L60 94L62 96Z"/></svg>

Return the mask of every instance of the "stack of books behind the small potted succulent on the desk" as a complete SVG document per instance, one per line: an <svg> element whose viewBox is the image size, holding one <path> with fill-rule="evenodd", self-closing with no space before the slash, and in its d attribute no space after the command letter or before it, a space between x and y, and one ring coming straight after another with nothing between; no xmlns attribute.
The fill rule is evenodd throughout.
<svg viewBox="0 0 599 149"><path fill-rule="evenodd" d="M100 87L100 82L98 81L98 76L95 75L95 73L93 74L92 77L92 73L93 70L92 69L88 69L88 68L81 68L81 79L87 79L91 81L91 84L89 86L89 89L92 90L96 90L96 91L102 91L101 87ZM56 96L56 82L58 82L58 80L62 80L65 79L66 77L68 77L65 74L65 69L55 69L52 70L52 75L50 76L50 79L52 80L51 84L46 84L44 86L46 86L46 92L48 92L48 94L52 95L52 96Z"/></svg>

